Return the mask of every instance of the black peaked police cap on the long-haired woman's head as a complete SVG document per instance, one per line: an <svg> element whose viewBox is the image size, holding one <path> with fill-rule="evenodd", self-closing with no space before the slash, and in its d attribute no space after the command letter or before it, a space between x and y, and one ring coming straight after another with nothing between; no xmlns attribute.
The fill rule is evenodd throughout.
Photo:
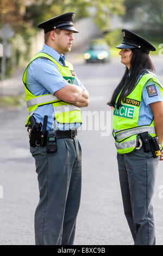
<svg viewBox="0 0 163 256"><path fill-rule="evenodd" d="M142 36L135 34L127 29L122 29L123 41L121 45L116 46L118 49L133 49L140 48L143 51L149 53L149 51L155 51L156 48Z"/></svg>

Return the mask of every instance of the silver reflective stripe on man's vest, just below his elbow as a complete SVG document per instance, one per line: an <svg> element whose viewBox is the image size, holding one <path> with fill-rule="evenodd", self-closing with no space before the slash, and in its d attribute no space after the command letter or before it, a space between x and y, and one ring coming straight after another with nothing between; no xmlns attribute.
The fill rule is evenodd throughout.
<svg viewBox="0 0 163 256"><path fill-rule="evenodd" d="M35 97L34 99L27 100L27 107L32 107L37 104L41 104L49 101L55 101L55 100L59 100L59 99L52 94L42 95L39 97Z"/></svg>

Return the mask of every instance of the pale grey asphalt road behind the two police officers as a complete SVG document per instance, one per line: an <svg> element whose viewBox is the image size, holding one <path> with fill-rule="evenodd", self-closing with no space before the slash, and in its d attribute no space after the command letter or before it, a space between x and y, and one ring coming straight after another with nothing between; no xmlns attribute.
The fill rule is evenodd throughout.
<svg viewBox="0 0 163 256"><path fill-rule="evenodd" d="M152 59L163 83L162 58ZM133 245L123 214L111 109L106 105L122 77L123 65L117 58L108 64L84 64L79 59L74 69L90 93L90 105L83 108L85 123L78 132L83 149L83 186L75 244ZM26 117L25 107L0 112L0 245L34 245L39 189L24 128ZM163 244L162 164L159 163L153 197L157 245Z"/></svg>

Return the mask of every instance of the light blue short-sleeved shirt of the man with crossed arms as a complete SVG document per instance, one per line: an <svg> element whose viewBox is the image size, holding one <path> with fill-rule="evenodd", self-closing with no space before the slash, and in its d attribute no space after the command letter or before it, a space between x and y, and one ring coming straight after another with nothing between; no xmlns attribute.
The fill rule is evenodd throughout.
<svg viewBox="0 0 163 256"><path fill-rule="evenodd" d="M57 60L59 64L61 64L59 62L60 54L48 45L43 45L43 48L40 52L49 54L51 57ZM63 54L61 57L65 59ZM80 86L85 89L83 83L79 81L77 76L75 76L75 84L76 86ZM67 81L62 77L57 64L51 60L37 58L32 63L30 63L27 70L27 88L35 96L49 93L54 94L57 92L57 90L60 90L66 85ZM53 128L55 113L52 103L37 107L33 115L36 119L36 122L41 122L42 124L44 115L48 115L47 130ZM70 130L73 128L78 129L80 126L80 123L61 124L56 121L56 127L59 130Z"/></svg>

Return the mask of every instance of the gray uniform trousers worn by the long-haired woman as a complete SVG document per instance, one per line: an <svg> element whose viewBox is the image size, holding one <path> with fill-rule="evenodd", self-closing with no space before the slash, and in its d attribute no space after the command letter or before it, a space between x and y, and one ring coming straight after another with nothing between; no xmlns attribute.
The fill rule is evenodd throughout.
<svg viewBox="0 0 163 256"><path fill-rule="evenodd" d="M124 214L135 245L155 245L152 196L159 157L145 153L117 154Z"/></svg>

